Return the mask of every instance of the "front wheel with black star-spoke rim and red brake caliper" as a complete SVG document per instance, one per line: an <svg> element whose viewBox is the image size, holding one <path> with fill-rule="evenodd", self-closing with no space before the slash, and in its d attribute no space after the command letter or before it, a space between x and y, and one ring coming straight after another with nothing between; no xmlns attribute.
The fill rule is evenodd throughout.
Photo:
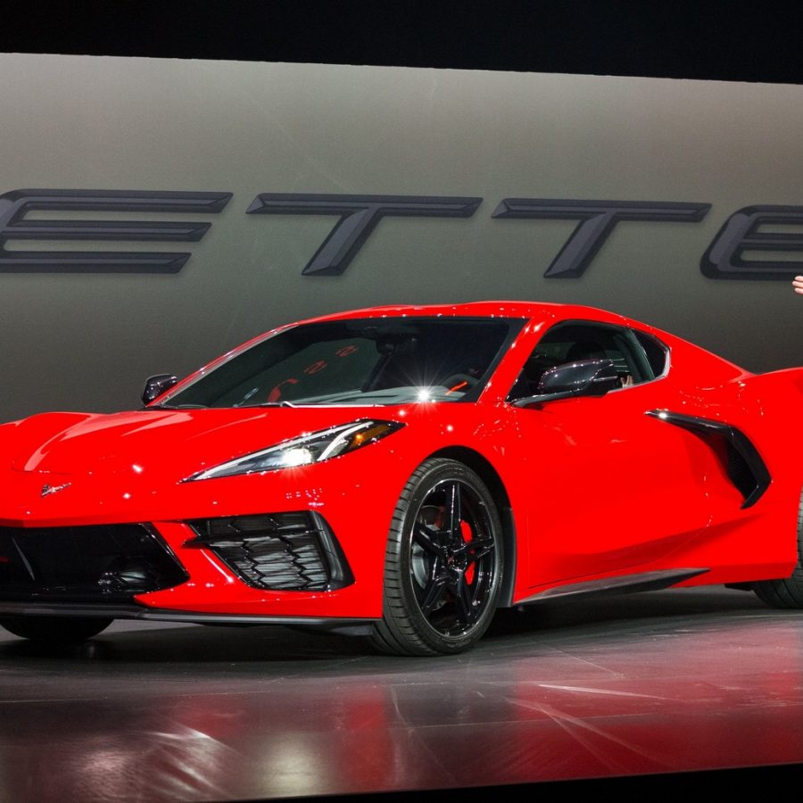
<svg viewBox="0 0 803 803"><path fill-rule="evenodd" d="M371 642L394 655L468 650L491 624L503 550L499 513L480 477L456 460L426 460L393 514L384 616Z"/></svg>

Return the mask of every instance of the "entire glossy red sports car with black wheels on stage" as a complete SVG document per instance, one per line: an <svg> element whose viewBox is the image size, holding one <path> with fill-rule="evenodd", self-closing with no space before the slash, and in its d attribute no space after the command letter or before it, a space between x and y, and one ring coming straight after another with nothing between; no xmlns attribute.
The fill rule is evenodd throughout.
<svg viewBox="0 0 803 803"><path fill-rule="evenodd" d="M0 426L0 624L114 618L466 650L494 611L726 584L803 605L803 368L588 307L383 307L257 337L145 407Z"/></svg>

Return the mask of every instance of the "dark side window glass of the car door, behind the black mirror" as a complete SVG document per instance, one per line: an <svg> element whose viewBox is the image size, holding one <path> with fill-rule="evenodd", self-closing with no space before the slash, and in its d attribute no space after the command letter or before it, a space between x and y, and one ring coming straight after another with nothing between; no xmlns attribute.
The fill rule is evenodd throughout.
<svg viewBox="0 0 803 803"><path fill-rule="evenodd" d="M508 399L536 395L545 371L578 360L612 360L623 387L646 382L657 375L645 352L637 335L625 327L584 321L556 324L535 346Z"/></svg>

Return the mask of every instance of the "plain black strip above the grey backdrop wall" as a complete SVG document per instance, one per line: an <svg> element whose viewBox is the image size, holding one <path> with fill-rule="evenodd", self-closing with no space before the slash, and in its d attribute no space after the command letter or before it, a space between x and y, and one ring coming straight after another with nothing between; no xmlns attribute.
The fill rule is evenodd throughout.
<svg viewBox="0 0 803 803"><path fill-rule="evenodd" d="M803 83L795 4L6 0L0 51Z"/></svg>

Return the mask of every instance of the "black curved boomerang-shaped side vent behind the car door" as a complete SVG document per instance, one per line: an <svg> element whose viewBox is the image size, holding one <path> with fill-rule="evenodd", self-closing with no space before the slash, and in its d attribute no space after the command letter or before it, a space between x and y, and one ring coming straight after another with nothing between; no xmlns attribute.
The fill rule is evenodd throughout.
<svg viewBox="0 0 803 803"><path fill-rule="evenodd" d="M744 497L742 508L756 504L769 487L772 477L764 460L747 435L735 426L669 410L648 410L647 415L688 429L707 441L722 460L728 479Z"/></svg>

